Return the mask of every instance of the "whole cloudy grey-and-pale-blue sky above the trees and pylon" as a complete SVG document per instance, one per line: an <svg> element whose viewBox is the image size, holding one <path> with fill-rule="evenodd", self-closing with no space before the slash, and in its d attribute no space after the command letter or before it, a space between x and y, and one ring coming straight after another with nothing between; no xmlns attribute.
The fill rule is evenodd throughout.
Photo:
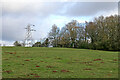
<svg viewBox="0 0 120 80"><path fill-rule="evenodd" d="M91 21L94 17L118 14L117 2L2 2L2 40L13 44L25 38L25 27L34 24L33 38L47 37L53 24L63 27L71 20ZM0 28L1 29L1 28ZM1 40L0 40L1 42Z"/></svg>

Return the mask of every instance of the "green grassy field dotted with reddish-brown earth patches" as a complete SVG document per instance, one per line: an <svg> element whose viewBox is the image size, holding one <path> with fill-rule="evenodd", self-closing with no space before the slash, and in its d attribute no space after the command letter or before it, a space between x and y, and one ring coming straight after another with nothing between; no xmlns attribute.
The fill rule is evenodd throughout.
<svg viewBox="0 0 120 80"><path fill-rule="evenodd" d="M118 78L118 52L3 47L3 78Z"/></svg>

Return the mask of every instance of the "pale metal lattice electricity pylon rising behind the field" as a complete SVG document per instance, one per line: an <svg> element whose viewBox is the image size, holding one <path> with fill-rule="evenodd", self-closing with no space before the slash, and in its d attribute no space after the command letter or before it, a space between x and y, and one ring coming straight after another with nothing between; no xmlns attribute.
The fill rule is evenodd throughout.
<svg viewBox="0 0 120 80"><path fill-rule="evenodd" d="M26 29L26 36L24 40L25 47L32 47L33 45L32 31L36 31L36 30L34 30L31 26L35 26L35 25L28 24L27 27L25 28Z"/></svg>

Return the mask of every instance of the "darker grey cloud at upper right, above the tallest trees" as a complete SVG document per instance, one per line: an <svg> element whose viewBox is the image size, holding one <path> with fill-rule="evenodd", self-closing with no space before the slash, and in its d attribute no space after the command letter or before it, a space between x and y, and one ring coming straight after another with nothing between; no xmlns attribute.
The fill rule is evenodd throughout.
<svg viewBox="0 0 120 80"><path fill-rule="evenodd" d="M99 12L109 12L118 8L117 2L78 2L69 6L63 15L93 16Z"/></svg>

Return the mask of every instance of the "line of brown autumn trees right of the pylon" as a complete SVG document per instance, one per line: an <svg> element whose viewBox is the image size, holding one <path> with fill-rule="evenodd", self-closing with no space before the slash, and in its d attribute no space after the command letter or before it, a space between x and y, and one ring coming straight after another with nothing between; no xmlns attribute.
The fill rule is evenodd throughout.
<svg viewBox="0 0 120 80"><path fill-rule="evenodd" d="M72 20L62 29L53 25L43 43L33 47L66 47L95 50L120 50L118 15L99 16L91 22Z"/></svg>

